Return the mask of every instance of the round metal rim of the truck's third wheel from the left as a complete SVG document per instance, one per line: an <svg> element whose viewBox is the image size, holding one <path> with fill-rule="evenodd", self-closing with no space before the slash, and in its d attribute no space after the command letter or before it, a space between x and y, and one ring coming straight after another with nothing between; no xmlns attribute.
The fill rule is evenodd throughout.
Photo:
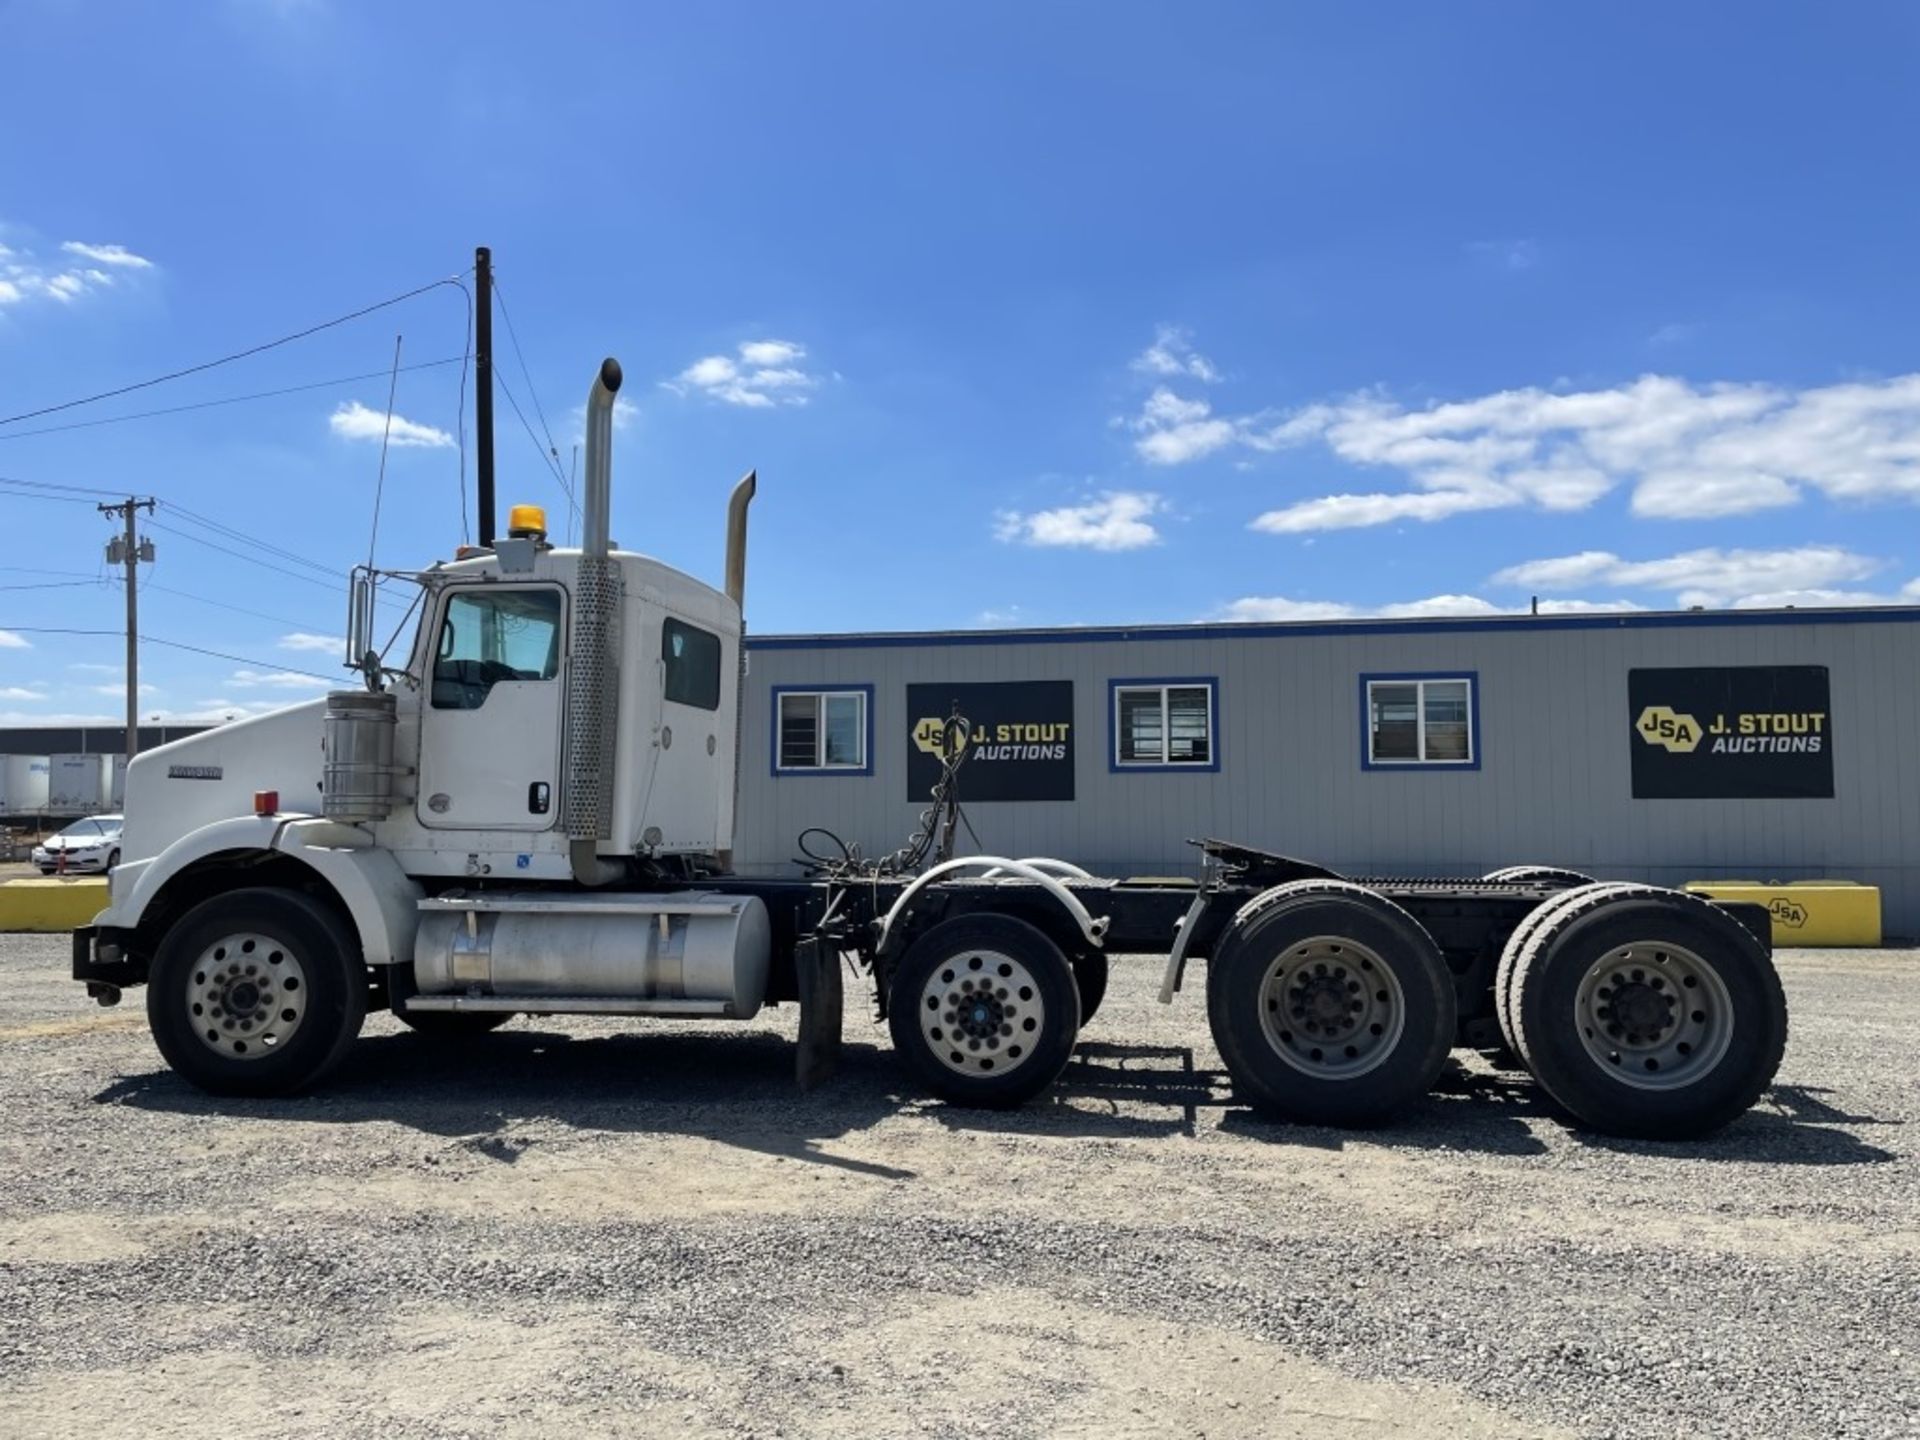
<svg viewBox="0 0 1920 1440"><path fill-rule="evenodd" d="M1377 950L1344 935L1288 945L1260 981L1260 1027L1288 1066L1315 1079L1357 1079L1400 1044L1407 1000Z"/></svg>

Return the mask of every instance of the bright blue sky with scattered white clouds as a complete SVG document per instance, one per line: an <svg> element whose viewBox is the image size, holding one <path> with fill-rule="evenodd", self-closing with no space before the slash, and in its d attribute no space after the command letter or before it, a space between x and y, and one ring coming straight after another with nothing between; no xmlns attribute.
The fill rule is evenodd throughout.
<svg viewBox="0 0 1920 1440"><path fill-rule="evenodd" d="M760 632L1920 599L1912 8L12 0L0 35L0 415L490 244L563 467L626 365L624 545L716 580L760 468ZM108 524L35 486L157 495L144 630L246 660L146 647L146 714L317 693L396 334L378 559L422 564L461 540L453 288L0 424L0 724L119 714L119 639L44 630L119 626ZM559 516L497 409L501 505Z"/></svg>

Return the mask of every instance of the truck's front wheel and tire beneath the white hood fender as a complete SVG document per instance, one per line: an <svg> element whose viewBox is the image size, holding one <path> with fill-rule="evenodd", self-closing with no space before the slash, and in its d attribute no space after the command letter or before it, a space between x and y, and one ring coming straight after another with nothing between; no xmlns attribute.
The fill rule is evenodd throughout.
<svg viewBox="0 0 1920 1440"><path fill-rule="evenodd" d="M213 1094L288 1094L346 1056L367 1016L359 939L319 900L240 889L167 931L146 985L154 1043Z"/></svg>

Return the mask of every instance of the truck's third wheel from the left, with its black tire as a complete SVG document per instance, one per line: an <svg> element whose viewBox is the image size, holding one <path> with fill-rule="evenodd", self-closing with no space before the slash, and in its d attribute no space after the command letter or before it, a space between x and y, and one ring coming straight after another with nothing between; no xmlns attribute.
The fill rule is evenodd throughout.
<svg viewBox="0 0 1920 1440"><path fill-rule="evenodd" d="M1369 1125L1432 1089L1453 977L1421 924L1361 885L1302 879L1242 906L1208 962L1208 1023L1238 1092L1286 1119Z"/></svg>

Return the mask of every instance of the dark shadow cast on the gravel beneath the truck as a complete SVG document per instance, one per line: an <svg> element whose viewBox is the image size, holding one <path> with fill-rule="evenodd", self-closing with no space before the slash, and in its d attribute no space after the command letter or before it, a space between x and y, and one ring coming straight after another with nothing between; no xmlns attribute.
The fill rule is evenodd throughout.
<svg viewBox="0 0 1920 1440"><path fill-rule="evenodd" d="M1634 1142L1572 1131L1580 1144L1649 1158L1705 1158L1793 1165L1882 1164L1851 1125L1876 1125L1822 1100L1822 1091L1780 1087L1720 1135L1695 1142ZM1087 1139L1194 1137L1200 1114L1263 1144L1336 1152L1354 1140L1390 1150L1540 1156L1551 1146L1538 1121L1565 1125L1524 1075L1448 1064L1436 1091L1390 1125L1340 1131L1260 1117L1240 1104L1223 1069L1196 1064L1183 1044L1083 1041L1060 1083L1020 1110L962 1110L912 1091L883 1044L847 1041L839 1071L812 1092L793 1083L793 1043L778 1033L676 1027L670 1033L578 1037L509 1027L461 1043L411 1033L363 1037L348 1064L315 1094L250 1100L211 1096L171 1071L127 1075L98 1104L275 1121L388 1123L463 1142L513 1164L526 1148L516 1127L559 1123L582 1133L687 1135L743 1150L870 1175L914 1171L824 1150L902 1114L925 1114L952 1131Z"/></svg>

